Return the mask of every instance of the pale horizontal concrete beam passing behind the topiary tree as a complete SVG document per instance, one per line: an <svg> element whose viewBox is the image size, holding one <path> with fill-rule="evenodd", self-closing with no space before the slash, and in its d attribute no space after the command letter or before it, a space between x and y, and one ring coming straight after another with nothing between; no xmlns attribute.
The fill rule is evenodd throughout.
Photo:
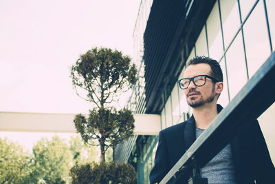
<svg viewBox="0 0 275 184"><path fill-rule="evenodd" d="M76 114L0 112L0 131L76 133ZM134 114L136 135L156 135L161 127L158 114Z"/></svg>

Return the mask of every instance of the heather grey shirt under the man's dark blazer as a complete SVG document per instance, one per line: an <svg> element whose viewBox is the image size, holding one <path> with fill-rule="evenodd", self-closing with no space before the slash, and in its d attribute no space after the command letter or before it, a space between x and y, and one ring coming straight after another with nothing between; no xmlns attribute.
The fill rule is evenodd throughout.
<svg viewBox="0 0 275 184"><path fill-rule="evenodd" d="M203 130L196 127L196 139ZM236 176L232 162L231 145L226 145L219 154L201 169L203 178L208 178L209 184L228 183L235 184Z"/></svg>

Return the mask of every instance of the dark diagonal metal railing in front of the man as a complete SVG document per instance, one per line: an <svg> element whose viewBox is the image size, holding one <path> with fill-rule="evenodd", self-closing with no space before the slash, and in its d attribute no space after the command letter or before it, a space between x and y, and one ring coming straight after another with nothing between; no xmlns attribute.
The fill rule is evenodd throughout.
<svg viewBox="0 0 275 184"><path fill-rule="evenodd" d="M263 63L207 130L162 179L163 183L187 181L218 154L249 120L258 118L275 101L275 52Z"/></svg>

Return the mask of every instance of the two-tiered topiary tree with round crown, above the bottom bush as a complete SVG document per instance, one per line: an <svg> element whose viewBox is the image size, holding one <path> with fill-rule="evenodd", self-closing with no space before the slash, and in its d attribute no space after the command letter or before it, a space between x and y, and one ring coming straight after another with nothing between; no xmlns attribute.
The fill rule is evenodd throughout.
<svg viewBox="0 0 275 184"><path fill-rule="evenodd" d="M136 74L135 65L128 56L108 48L88 50L72 65L71 78L76 94L94 104L88 118L82 114L75 116L74 125L85 143L94 145L91 140L97 140L102 162L109 147L133 134L132 112L115 110L111 105L135 85Z"/></svg>

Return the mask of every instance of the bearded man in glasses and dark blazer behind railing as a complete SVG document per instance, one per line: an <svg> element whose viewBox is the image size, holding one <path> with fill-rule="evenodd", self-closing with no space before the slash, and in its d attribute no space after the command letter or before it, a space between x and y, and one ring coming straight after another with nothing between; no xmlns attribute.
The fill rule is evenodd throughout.
<svg viewBox="0 0 275 184"><path fill-rule="evenodd" d="M188 121L159 132L151 183L162 181L222 110L217 100L223 90L223 74L217 61L208 57L191 59L179 86L193 114ZM250 122L201 169L201 174L208 183L275 183L274 165L258 121Z"/></svg>

